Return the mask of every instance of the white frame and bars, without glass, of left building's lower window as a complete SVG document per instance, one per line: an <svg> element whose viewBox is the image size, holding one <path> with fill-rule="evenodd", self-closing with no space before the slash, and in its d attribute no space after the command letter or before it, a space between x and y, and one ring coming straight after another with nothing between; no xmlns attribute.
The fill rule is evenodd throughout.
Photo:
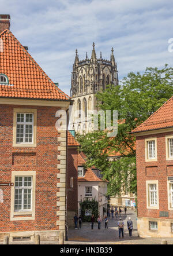
<svg viewBox="0 0 173 256"><path fill-rule="evenodd" d="M32 211L32 186L33 186L33 183L32 183L32 176L30 175L26 175L26 176L21 176L21 175L16 175L15 176L15 181L16 181L16 177L22 177L22 186L16 186L16 182L14 182L14 212L20 212L20 211ZM25 177L31 177L31 186L25 186L24 185L24 179ZM21 189L22 190L22 203L21 203L21 209L16 209L15 210L15 195L16 195L16 190L19 190ZM24 190L25 189L31 189L31 209L24 209Z"/></svg>

